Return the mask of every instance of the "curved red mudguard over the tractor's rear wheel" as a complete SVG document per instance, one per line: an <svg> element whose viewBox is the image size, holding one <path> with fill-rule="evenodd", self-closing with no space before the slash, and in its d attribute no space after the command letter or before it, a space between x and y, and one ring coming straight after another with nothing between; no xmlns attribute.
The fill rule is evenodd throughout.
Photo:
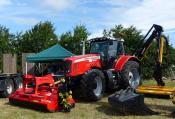
<svg viewBox="0 0 175 119"><path fill-rule="evenodd" d="M120 58L117 60L115 64L115 71L119 72L122 70L123 66L126 64L127 61L136 61L140 62L139 59L135 56L130 56L130 55L121 55Z"/></svg>

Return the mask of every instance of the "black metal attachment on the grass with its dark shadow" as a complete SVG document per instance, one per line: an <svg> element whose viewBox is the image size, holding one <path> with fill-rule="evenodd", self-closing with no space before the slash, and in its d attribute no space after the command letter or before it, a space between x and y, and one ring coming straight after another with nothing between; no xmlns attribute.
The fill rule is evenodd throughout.
<svg viewBox="0 0 175 119"><path fill-rule="evenodd" d="M153 115L156 114L144 104L144 96L142 94L135 93L128 90L120 90L108 97L108 102L118 112L141 114L141 115Z"/></svg>

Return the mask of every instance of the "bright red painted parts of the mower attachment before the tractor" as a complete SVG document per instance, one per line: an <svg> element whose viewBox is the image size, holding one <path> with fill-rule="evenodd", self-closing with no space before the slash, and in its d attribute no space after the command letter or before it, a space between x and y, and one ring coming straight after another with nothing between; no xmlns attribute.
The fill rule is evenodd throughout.
<svg viewBox="0 0 175 119"><path fill-rule="evenodd" d="M9 100L12 101L24 101L28 103L34 103L39 105L46 106L47 110L55 111L62 110L62 107L59 106L59 98L58 98L58 87L55 87L54 80L51 74L46 75L44 77L28 77L24 80L23 88L19 88L15 91L10 97ZM35 82L35 88L27 88L26 85L31 81ZM52 86L41 86L41 84L51 84ZM40 86L40 87L39 87ZM73 99L68 100L70 104L75 104Z"/></svg>

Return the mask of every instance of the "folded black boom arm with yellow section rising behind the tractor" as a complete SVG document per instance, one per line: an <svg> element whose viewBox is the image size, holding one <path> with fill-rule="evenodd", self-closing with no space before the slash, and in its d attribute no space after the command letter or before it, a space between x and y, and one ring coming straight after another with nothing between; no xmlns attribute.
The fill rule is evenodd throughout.
<svg viewBox="0 0 175 119"><path fill-rule="evenodd" d="M154 29L154 30L153 30ZM165 83L162 80L162 71L161 71L161 64L162 64L162 57L163 57L163 47L164 42L166 44L168 43L167 38L162 35L163 28L159 25L153 24L153 26L150 28L148 33L145 35L144 39L147 38L147 36L150 34L150 32L153 30L152 34L149 36L149 38L146 40L146 42L143 44L141 50L139 50L135 56L138 57L138 59L143 59L146 51L149 49L151 43L154 39L156 39L157 47L156 47L156 65L154 69L154 78L157 81L157 84L160 86L164 86Z"/></svg>

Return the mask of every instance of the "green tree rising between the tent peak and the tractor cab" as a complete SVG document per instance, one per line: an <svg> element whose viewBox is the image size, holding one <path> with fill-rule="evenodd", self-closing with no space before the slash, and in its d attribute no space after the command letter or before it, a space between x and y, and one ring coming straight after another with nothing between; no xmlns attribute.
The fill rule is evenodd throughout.
<svg viewBox="0 0 175 119"><path fill-rule="evenodd" d="M60 44L69 51L79 55L82 53L82 41L86 41L90 33L86 26L77 25L73 32L69 31L60 36Z"/></svg>

